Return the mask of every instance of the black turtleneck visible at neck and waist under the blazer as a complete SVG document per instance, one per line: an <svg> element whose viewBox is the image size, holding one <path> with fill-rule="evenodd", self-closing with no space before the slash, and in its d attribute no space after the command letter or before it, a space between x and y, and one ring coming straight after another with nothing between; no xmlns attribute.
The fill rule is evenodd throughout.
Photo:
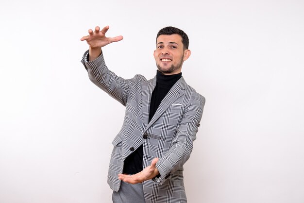
<svg viewBox="0 0 304 203"><path fill-rule="evenodd" d="M159 104L168 94L171 87L182 77L182 73L174 75L164 75L159 70L156 73L156 86L152 92L149 122L153 118ZM142 171L142 156L143 147L138 147L133 153L131 153L124 161L123 173L135 174Z"/></svg>

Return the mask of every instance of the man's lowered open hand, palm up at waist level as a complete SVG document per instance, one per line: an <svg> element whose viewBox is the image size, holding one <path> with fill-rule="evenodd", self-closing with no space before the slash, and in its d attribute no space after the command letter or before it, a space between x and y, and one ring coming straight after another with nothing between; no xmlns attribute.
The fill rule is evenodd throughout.
<svg viewBox="0 0 304 203"><path fill-rule="evenodd" d="M156 163L158 158L154 158L151 165L143 169L142 171L134 175L118 174L118 179L131 184L142 183L146 180L150 180L159 174L158 169L156 169Z"/></svg>

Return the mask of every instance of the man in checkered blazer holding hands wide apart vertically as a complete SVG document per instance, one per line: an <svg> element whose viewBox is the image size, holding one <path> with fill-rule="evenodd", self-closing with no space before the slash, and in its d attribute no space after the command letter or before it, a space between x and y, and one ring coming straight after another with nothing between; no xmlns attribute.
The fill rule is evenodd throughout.
<svg viewBox="0 0 304 203"><path fill-rule="evenodd" d="M101 47L122 40L106 37L109 26L89 30L82 63L90 80L126 106L114 138L108 184L114 203L186 203L183 165L190 157L205 99L186 84L181 69L191 51L188 36L166 27L156 37L156 76L122 79L110 71Z"/></svg>

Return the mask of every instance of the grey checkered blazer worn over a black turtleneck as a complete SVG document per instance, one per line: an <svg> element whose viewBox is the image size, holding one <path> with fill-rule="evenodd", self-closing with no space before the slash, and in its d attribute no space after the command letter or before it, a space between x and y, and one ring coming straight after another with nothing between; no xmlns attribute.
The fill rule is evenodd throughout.
<svg viewBox="0 0 304 203"><path fill-rule="evenodd" d="M94 61L82 63L90 80L111 97L126 106L123 125L114 138L108 184L118 191L124 160L143 145L143 168L159 160L159 178L143 182L146 203L186 203L183 165L190 157L193 141L200 126L205 99L184 78L172 86L149 122L149 108L156 76L147 81L142 75L125 80L111 72L101 54Z"/></svg>

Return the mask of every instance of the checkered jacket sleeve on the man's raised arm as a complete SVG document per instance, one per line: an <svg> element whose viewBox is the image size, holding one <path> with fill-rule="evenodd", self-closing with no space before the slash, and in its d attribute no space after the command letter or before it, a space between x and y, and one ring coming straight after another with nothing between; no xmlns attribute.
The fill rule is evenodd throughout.
<svg viewBox="0 0 304 203"><path fill-rule="evenodd" d="M134 86L138 75L135 75L132 79L125 80L106 67L102 53L93 61L87 61L87 57L88 51L85 51L81 62L88 72L89 79L115 100L126 106L130 88Z"/></svg>

